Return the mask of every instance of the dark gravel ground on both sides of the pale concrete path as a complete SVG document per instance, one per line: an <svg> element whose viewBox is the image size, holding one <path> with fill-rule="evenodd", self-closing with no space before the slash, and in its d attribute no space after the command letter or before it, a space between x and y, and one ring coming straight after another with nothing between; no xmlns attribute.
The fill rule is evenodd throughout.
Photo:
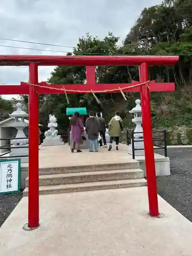
<svg viewBox="0 0 192 256"><path fill-rule="evenodd" d="M171 175L157 178L158 194L192 221L192 148L169 148L168 156ZM23 191L0 195L0 227L22 197Z"/></svg>

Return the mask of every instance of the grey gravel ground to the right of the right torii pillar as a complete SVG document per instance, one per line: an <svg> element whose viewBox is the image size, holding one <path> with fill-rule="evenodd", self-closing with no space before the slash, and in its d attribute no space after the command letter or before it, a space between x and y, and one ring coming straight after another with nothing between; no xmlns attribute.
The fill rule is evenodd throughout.
<svg viewBox="0 0 192 256"><path fill-rule="evenodd" d="M171 175L157 178L158 194L192 221L192 148L169 148L168 157Z"/></svg>

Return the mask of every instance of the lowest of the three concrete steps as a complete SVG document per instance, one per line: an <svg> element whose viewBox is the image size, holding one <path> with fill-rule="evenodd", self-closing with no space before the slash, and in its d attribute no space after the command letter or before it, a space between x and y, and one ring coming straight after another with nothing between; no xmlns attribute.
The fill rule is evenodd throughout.
<svg viewBox="0 0 192 256"><path fill-rule="evenodd" d="M58 194L58 193L72 193L80 191L114 189L125 187L139 187L146 186L145 179L131 179L131 180L115 180L115 181L98 181L67 185L51 185L39 186L39 195ZM28 196L28 187L24 190L24 196Z"/></svg>

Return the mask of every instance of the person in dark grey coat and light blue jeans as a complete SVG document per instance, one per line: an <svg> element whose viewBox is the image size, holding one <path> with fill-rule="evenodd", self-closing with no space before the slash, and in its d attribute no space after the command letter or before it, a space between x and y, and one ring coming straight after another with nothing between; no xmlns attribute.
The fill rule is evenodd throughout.
<svg viewBox="0 0 192 256"><path fill-rule="evenodd" d="M90 113L86 120L86 133L90 142L90 152L93 152L93 147L95 147L95 152L98 152L99 123L93 113Z"/></svg>

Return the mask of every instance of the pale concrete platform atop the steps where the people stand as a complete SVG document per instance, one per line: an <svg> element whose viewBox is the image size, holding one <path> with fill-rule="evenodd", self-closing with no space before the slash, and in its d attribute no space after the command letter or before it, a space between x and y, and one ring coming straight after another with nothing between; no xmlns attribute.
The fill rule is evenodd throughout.
<svg viewBox="0 0 192 256"><path fill-rule="evenodd" d="M127 146L124 144L119 144L119 151L113 148L111 152L102 147L99 152L82 150L82 153L72 154L68 144L41 146L39 150L39 168L126 162L136 161L127 154ZM23 163L22 166L28 166L28 163Z"/></svg>

